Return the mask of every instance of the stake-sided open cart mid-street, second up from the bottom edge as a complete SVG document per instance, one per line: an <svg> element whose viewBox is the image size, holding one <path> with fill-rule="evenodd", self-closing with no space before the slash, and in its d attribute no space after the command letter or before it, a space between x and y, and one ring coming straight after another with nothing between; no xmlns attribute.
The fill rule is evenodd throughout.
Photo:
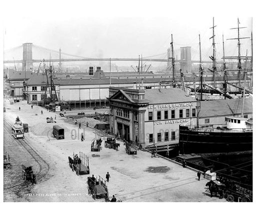
<svg viewBox="0 0 256 219"><path fill-rule="evenodd" d="M75 171L77 175L90 173L89 158L84 153L79 152L79 157L73 153L73 158L68 156L68 162L72 171Z"/></svg>

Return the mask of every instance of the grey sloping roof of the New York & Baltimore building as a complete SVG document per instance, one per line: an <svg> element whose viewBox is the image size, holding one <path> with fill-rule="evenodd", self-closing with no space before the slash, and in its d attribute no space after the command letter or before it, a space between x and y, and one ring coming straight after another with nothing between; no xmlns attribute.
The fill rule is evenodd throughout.
<svg viewBox="0 0 256 219"><path fill-rule="evenodd" d="M145 89L149 104L196 101L180 88Z"/></svg>

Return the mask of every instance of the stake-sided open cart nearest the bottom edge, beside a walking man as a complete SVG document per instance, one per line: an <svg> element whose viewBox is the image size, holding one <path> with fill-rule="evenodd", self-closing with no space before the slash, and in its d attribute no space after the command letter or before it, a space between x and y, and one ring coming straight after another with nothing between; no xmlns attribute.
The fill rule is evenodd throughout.
<svg viewBox="0 0 256 219"><path fill-rule="evenodd" d="M105 201L108 201L108 190L106 186L106 181L98 176L96 178L87 177L88 184L88 194L92 195L92 198L105 198Z"/></svg>

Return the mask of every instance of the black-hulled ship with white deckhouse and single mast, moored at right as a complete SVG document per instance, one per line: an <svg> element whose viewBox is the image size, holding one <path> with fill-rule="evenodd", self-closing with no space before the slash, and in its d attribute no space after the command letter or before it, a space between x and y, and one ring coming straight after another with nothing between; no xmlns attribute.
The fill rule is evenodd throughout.
<svg viewBox="0 0 256 219"><path fill-rule="evenodd" d="M225 125L216 127L179 126L179 150L181 153L203 155L240 155L252 154L252 118L245 118L244 97L246 80L246 62L243 82L243 98L240 116L226 116Z"/></svg>

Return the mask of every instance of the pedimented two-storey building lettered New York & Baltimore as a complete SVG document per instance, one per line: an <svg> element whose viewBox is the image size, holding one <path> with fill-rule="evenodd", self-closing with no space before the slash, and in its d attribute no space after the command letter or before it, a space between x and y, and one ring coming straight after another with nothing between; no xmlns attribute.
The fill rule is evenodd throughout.
<svg viewBox="0 0 256 219"><path fill-rule="evenodd" d="M144 148L171 150L180 124L196 124L196 100L179 88L109 87L110 131Z"/></svg>

